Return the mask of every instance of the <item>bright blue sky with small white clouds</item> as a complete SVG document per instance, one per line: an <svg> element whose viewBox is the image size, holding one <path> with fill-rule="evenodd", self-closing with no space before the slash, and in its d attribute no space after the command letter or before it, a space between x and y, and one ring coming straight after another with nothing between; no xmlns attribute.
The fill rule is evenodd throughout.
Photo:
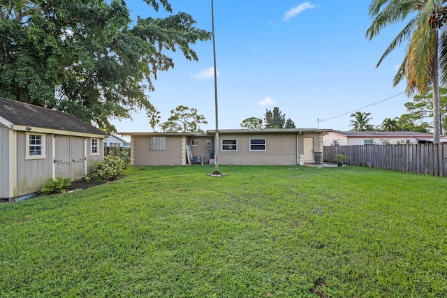
<svg viewBox="0 0 447 298"><path fill-rule="evenodd" d="M170 3L173 12L189 13L197 27L211 31L210 0ZM369 41L365 37L371 24L368 4L214 0L219 129L240 128L240 122L249 117L263 119L265 109L275 106L297 128L341 131L351 129L349 114L367 105L371 106L360 111L372 113L374 125L404 114L404 103L411 98L402 94L404 83L393 87L393 77L405 47L376 68L403 25L387 28ZM137 15L166 15L155 13L142 0L128 1L128 6L133 20ZM179 51L170 53L175 68L159 73L156 90L147 94L161 112L162 122L177 105L186 105L196 107L207 119L208 124L200 128L214 129L212 42L192 47L199 61L188 61ZM118 132L152 131L145 111L134 113L133 120L112 123Z"/></svg>

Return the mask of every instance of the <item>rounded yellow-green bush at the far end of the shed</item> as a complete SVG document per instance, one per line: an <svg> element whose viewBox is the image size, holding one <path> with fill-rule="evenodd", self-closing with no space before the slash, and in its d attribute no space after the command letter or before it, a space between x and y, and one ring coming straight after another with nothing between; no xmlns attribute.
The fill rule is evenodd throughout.
<svg viewBox="0 0 447 298"><path fill-rule="evenodd" d="M94 163L91 172L85 175L85 181L111 181L123 174L126 165L119 156L104 156L103 161Z"/></svg>

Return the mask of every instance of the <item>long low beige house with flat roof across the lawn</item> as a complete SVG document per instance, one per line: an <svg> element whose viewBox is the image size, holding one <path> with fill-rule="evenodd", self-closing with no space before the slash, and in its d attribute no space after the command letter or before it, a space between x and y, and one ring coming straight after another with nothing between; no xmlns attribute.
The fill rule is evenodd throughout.
<svg viewBox="0 0 447 298"><path fill-rule="evenodd" d="M329 131L332 130L316 128L220 130L219 164L320 163L323 161L323 133ZM119 134L131 136L132 165L186 165L198 160L203 163L214 161L214 131L207 131L206 134Z"/></svg>

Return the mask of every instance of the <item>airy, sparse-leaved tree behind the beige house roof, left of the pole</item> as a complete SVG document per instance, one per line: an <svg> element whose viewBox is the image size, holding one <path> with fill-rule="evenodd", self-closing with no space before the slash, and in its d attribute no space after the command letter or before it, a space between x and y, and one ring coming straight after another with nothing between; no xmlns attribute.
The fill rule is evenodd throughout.
<svg viewBox="0 0 447 298"><path fill-rule="evenodd" d="M191 132L203 133L200 124L208 124L202 114L198 114L196 108L179 105L175 110L170 111L168 121L161 124L161 130L166 132Z"/></svg>

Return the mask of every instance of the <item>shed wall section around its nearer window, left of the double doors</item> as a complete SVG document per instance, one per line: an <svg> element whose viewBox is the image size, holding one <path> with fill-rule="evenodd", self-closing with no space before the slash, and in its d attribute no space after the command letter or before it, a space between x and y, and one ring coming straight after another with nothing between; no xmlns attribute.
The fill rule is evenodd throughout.
<svg viewBox="0 0 447 298"><path fill-rule="evenodd" d="M52 135L45 135L47 158L25 160L26 135L17 132L17 196L39 191L45 179L52 177Z"/></svg>

